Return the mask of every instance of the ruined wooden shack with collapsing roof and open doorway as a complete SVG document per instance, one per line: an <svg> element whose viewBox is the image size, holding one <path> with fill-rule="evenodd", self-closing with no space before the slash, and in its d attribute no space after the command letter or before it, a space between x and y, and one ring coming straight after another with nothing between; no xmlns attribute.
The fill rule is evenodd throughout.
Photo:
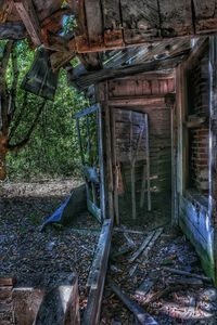
<svg viewBox="0 0 217 325"><path fill-rule="evenodd" d="M1 1L0 38L49 55L39 76L37 54L26 90L52 98L63 67L90 98L74 118L88 209L105 221L86 315L97 324L113 224L145 223L156 207L217 284L217 1L62 2ZM77 20L67 35L64 16Z"/></svg>

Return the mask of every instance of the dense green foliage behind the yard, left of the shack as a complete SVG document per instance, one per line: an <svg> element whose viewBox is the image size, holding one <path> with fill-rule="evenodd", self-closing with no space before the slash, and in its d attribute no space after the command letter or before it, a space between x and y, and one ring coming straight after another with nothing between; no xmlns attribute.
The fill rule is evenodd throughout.
<svg viewBox="0 0 217 325"><path fill-rule="evenodd" d="M16 116L21 112L25 91L21 89L21 82L28 72L34 51L28 49L24 41L16 47L18 56L18 89ZM10 68L8 74L11 79ZM27 105L20 126L13 135L11 143L17 143L23 139L34 119L41 103L41 99L27 95ZM71 177L79 173L80 158L77 142L75 121L72 115L88 106L88 101L82 93L67 86L65 70L60 72L59 87L54 102L48 101L28 144L17 153L8 155L8 174L10 179L38 179ZM15 119L14 119L15 120ZM13 123L12 123L13 128Z"/></svg>

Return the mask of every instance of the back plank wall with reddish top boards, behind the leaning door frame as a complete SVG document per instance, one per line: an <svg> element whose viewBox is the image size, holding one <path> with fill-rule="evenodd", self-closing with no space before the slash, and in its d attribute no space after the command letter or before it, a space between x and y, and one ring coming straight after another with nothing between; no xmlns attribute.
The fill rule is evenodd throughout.
<svg viewBox="0 0 217 325"><path fill-rule="evenodd" d="M152 200L157 206L161 204L161 197L162 199L164 195L169 195L170 197L171 191L170 108L166 106L164 96L165 94L174 91L174 76L168 74L140 74L128 78L119 78L107 81L106 105L108 106L107 109L112 126L111 138L113 136L114 132L112 120L115 112L119 112L119 109L136 110L139 113L146 113L149 116L150 165L151 177L154 177L154 179L151 181L151 187L153 191ZM104 93L101 93L102 98L104 98ZM103 106L105 106L105 104ZM118 119L118 123L125 123L124 116L125 115L123 115L123 120ZM125 128L125 131L127 138L129 135L128 133L130 132L129 128ZM122 139L117 139L118 136L122 136ZM124 135L122 132L116 133L117 143L123 143L123 141L125 141L123 136ZM118 153L116 154L118 157ZM141 152L139 154L142 157ZM107 144L105 155L105 161L110 161L111 152L107 148ZM143 166L144 160L140 160L136 164L136 191L138 205L142 184ZM115 174L114 161L113 172L113 174ZM127 188L127 191L125 191L125 195L119 196L119 203L120 206L126 206L126 203L131 202L129 199L131 188L129 161L122 162L122 176L124 186ZM146 203L144 208L146 209Z"/></svg>

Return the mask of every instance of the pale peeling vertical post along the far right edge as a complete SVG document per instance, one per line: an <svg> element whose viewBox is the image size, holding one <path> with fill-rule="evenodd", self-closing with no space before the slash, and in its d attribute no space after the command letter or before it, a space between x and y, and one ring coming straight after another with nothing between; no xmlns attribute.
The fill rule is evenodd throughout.
<svg viewBox="0 0 217 325"><path fill-rule="evenodd" d="M217 285L217 37L209 37L209 220L214 226L215 283Z"/></svg>

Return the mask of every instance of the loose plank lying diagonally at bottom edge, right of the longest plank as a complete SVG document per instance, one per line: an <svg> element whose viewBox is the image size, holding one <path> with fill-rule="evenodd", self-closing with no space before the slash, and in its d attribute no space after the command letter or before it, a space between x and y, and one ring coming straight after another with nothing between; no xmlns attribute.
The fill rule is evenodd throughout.
<svg viewBox="0 0 217 325"><path fill-rule="evenodd" d="M133 313L135 317L140 324L143 325L157 325L158 323L146 313L136 301L131 300L118 286L108 282L111 289L117 295L117 297L126 304L126 307Z"/></svg>

